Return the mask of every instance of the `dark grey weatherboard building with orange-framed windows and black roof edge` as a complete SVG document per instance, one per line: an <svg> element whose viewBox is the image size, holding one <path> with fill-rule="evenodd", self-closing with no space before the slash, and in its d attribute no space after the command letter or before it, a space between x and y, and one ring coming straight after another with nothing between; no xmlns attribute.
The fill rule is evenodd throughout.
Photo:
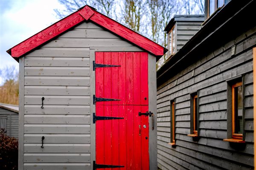
<svg viewBox="0 0 256 170"><path fill-rule="evenodd" d="M160 169L254 169L255 7L206 1L202 28L157 71Z"/></svg>

